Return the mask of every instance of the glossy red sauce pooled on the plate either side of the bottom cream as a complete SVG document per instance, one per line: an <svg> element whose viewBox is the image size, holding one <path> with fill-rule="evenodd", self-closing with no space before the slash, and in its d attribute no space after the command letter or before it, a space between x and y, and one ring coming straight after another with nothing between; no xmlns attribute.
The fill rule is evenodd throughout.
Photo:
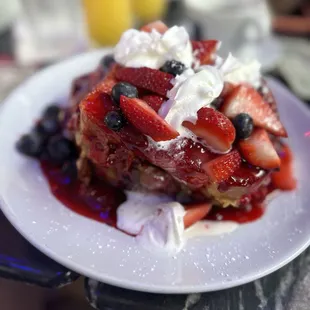
<svg viewBox="0 0 310 310"><path fill-rule="evenodd" d="M46 162L41 162L41 168L51 192L66 207L85 217L116 227L116 209L126 200L122 190L103 181L94 181L86 186L65 175L61 168ZM206 219L248 223L259 219L263 214L263 205L257 203L240 208L213 207Z"/></svg>

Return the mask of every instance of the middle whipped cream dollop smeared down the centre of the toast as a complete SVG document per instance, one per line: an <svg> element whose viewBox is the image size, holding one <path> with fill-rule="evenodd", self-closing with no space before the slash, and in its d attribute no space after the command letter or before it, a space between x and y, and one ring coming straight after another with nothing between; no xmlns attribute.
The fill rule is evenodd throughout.
<svg viewBox="0 0 310 310"><path fill-rule="evenodd" d="M182 123L196 123L197 112L208 107L224 87L222 72L214 66L204 66L198 72L186 70L174 80L173 88L167 93L169 100L164 103L159 114L181 135Z"/></svg>

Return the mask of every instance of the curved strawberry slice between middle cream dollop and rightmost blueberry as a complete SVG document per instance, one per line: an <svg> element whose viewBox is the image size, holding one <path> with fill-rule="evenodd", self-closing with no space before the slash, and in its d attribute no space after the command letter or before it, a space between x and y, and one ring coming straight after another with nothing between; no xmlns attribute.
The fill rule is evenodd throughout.
<svg viewBox="0 0 310 310"><path fill-rule="evenodd" d="M196 124L185 121L183 126L205 140L211 149L227 152L236 138L232 122L221 112L212 108L202 108L197 113Z"/></svg>

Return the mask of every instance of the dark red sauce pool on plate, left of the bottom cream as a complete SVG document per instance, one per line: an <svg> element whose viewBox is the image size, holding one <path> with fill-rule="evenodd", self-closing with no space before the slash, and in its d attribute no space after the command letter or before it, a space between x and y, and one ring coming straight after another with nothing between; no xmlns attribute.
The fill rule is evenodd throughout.
<svg viewBox="0 0 310 310"><path fill-rule="evenodd" d="M72 211L116 226L116 209L126 200L125 194L102 181L85 186L76 179L65 175L61 168L41 162L42 171L53 195Z"/></svg>

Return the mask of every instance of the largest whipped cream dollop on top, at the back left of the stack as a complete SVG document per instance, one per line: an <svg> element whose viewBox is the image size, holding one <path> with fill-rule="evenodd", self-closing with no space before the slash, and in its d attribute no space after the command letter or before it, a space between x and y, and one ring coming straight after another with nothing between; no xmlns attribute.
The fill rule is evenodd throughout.
<svg viewBox="0 0 310 310"><path fill-rule="evenodd" d="M167 60L177 60L190 68L193 51L184 27L174 26L164 34L129 29L114 48L116 62L125 67L159 69Z"/></svg>

